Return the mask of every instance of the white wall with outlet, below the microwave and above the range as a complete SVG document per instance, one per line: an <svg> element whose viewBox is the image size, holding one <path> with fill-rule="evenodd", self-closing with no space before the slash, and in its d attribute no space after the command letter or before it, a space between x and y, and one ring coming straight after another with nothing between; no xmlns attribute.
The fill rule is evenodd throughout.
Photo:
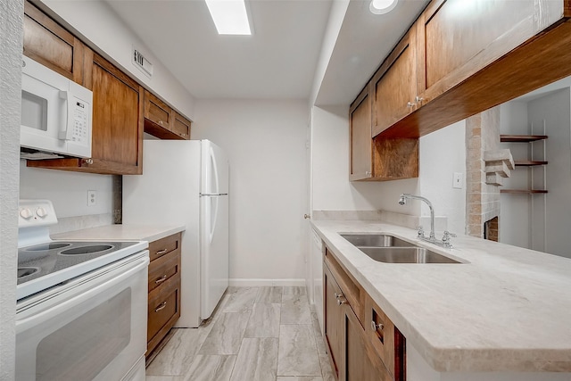
<svg viewBox="0 0 571 381"><path fill-rule="evenodd" d="M96 191L94 206L87 206L87 191ZM20 161L20 198L46 198L58 218L112 213L111 175L45 170Z"/></svg>

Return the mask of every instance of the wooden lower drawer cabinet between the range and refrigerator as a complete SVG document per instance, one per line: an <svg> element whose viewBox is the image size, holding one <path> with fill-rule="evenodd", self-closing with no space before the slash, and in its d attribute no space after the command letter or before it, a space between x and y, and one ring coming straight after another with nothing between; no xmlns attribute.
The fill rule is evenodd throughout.
<svg viewBox="0 0 571 381"><path fill-rule="evenodd" d="M177 233L149 244L147 358L180 317L180 241Z"/></svg>

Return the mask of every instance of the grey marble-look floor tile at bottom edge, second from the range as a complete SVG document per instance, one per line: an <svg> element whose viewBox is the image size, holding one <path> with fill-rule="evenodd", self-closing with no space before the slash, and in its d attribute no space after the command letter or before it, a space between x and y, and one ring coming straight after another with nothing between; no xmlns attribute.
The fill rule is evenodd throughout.
<svg viewBox="0 0 571 381"><path fill-rule="evenodd" d="M235 362L235 355L198 354L194 356L184 381L228 381Z"/></svg>

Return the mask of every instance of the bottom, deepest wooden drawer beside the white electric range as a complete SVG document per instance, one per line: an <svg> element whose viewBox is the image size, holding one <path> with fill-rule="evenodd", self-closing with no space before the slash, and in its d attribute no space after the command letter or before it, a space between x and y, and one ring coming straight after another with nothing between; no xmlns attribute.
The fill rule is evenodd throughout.
<svg viewBox="0 0 571 381"><path fill-rule="evenodd" d="M179 317L180 277L171 277L149 294L147 354L161 341Z"/></svg>

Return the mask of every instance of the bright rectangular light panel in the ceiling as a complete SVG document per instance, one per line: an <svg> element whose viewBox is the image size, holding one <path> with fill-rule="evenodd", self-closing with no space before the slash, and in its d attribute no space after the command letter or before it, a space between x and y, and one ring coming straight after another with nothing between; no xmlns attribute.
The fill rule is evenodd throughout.
<svg viewBox="0 0 571 381"><path fill-rule="evenodd" d="M205 0L219 35L251 35L244 0Z"/></svg>

